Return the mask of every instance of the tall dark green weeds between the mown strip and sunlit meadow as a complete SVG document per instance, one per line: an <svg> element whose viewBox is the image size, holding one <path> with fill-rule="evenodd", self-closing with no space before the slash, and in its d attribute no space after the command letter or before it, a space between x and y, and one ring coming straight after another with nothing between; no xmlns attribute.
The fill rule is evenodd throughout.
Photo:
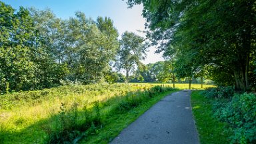
<svg viewBox="0 0 256 144"><path fill-rule="evenodd" d="M48 135L47 143L73 143L81 135L82 137L97 135L106 123L104 117L127 113L129 110L141 105L141 103L149 101L152 97L165 91L173 90L175 89L171 87L157 85L147 91L129 92L126 95L122 95L122 98L116 101L115 107L108 113L101 113L104 109L101 105L107 106L107 103L110 103L113 99L101 103L94 101L91 109L87 109L86 106L83 107L83 115L79 115L77 103L73 103L70 109L67 109L65 104L61 103L59 114L55 116L57 119L54 121L54 127L44 127ZM151 91L153 95L150 95L148 91Z"/></svg>

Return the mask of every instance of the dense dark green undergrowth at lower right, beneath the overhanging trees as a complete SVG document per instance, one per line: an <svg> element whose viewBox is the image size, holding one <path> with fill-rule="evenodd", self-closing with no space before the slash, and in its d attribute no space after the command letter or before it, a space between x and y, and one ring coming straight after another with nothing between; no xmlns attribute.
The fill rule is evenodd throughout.
<svg viewBox="0 0 256 144"><path fill-rule="evenodd" d="M235 93L232 87L206 89L205 97L214 99L214 116L228 123L230 143L256 143L256 95Z"/></svg>

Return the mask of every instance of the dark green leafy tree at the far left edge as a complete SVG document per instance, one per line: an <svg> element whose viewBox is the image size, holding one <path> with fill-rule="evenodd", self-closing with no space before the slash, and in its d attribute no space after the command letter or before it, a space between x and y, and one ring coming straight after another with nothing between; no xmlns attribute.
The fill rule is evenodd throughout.
<svg viewBox="0 0 256 144"><path fill-rule="evenodd" d="M15 10L0 2L0 79L10 89L29 89L34 84L35 63L33 53L33 20L28 9Z"/></svg>

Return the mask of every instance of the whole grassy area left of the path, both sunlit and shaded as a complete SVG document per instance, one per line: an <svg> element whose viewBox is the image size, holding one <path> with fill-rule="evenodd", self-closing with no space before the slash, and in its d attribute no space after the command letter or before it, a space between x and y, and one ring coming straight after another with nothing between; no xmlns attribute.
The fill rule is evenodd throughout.
<svg viewBox="0 0 256 144"><path fill-rule="evenodd" d="M154 92L160 92L157 89L148 90L153 86L72 85L1 95L0 141L55 143L81 135L90 143L90 137L97 135L93 141L107 143L167 95L158 95Z"/></svg>

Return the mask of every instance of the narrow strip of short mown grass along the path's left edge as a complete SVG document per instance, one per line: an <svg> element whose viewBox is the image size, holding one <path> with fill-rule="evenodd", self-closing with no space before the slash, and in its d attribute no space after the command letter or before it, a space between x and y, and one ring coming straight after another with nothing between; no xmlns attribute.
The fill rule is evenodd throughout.
<svg viewBox="0 0 256 144"><path fill-rule="evenodd" d="M160 99L169 95L175 91L167 91L165 93L161 93L159 95L155 95L153 98L148 99L147 101L141 103L137 107L130 109L126 113L119 113L115 115L109 115L105 119L105 127L100 129L97 135L91 135L89 137L85 137L80 143L109 143L112 141L125 127L127 127L130 123L135 121L140 115L145 113L147 109L152 107L155 103L157 103Z"/></svg>

